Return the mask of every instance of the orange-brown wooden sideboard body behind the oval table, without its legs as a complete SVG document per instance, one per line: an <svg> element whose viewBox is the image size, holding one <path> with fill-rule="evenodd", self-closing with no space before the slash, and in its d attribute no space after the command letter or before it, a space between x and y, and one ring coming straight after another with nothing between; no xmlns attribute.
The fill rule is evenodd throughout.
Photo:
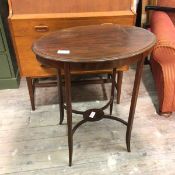
<svg viewBox="0 0 175 175"><path fill-rule="evenodd" d="M67 2L66 2L67 1ZM37 62L31 50L39 37L63 28L116 23L134 25L131 0L9 0L9 25L23 77L55 75Z"/></svg>

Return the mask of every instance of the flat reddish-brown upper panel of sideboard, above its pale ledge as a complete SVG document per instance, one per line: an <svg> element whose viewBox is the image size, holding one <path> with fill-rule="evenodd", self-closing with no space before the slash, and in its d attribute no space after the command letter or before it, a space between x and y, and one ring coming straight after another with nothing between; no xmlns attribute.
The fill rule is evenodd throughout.
<svg viewBox="0 0 175 175"><path fill-rule="evenodd" d="M130 10L132 0L9 0L13 14L81 13Z"/></svg>

